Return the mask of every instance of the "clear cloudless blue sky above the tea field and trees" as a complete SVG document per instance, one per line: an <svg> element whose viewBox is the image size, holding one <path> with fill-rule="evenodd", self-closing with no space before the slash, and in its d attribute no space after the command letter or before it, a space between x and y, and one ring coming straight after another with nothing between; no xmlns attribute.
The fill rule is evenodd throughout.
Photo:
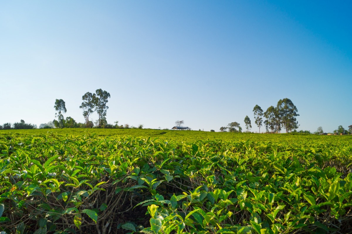
<svg viewBox="0 0 352 234"><path fill-rule="evenodd" d="M0 1L0 124L110 93L107 122L245 129L283 98L299 130L352 124L351 1ZM90 118L96 120L97 114ZM265 130L262 126L261 131Z"/></svg>

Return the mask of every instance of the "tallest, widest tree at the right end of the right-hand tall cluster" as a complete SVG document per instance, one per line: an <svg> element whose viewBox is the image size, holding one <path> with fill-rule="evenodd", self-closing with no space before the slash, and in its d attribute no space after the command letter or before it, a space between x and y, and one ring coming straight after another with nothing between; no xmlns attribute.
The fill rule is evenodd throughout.
<svg viewBox="0 0 352 234"><path fill-rule="evenodd" d="M280 99L277 102L277 111L281 125L286 129L286 133L298 128L299 125L296 120L296 116L299 116L298 110L290 99Z"/></svg>

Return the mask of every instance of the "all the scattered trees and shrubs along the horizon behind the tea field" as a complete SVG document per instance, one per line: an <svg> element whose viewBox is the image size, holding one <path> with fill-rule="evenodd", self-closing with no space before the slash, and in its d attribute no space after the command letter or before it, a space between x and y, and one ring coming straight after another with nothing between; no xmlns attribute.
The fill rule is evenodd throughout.
<svg viewBox="0 0 352 234"><path fill-rule="evenodd" d="M110 93L105 90L97 89L95 93L86 92L82 96L82 104L80 105L80 109L83 111L83 117L85 123L77 123L73 118L66 117L64 118L63 114L67 112L65 102L63 99L56 99L55 100L55 117L54 121L40 124L39 128L93 128L94 126L97 128L143 128L143 124L139 124L138 127L129 126L128 124L125 125L118 125L118 121L115 121L114 124L108 124L106 121L106 113L109 107L106 105L108 103L108 98L110 98ZM96 112L98 115L98 119L93 123L92 119L90 118L92 113ZM263 109L256 105L253 108L253 115L254 115L254 122L259 128L265 126L266 132L269 133L280 133L282 128L288 132L297 132L296 129L298 128L299 124L296 119L299 114L297 113L298 110L293 102L288 99L280 99L277 102L276 107L269 106L265 112ZM265 120L263 121L263 117ZM176 121L176 126L181 126L184 121ZM246 116L244 118L245 128L247 132L252 128L251 119ZM34 129L37 128L34 124L25 123L23 119L19 123L14 123L13 126L11 123L5 123L0 125L1 129ZM160 127L159 127L160 129ZM238 122L231 122L226 127L222 126L220 128L221 132L224 131L229 132L242 132L242 128ZM214 131L214 130L210 130ZM300 133L308 133L310 131L299 131ZM323 130L322 127L319 127L314 134L322 134ZM352 125L348 126L348 130L344 129L342 125L338 126L338 129L334 130L334 134L352 134Z"/></svg>

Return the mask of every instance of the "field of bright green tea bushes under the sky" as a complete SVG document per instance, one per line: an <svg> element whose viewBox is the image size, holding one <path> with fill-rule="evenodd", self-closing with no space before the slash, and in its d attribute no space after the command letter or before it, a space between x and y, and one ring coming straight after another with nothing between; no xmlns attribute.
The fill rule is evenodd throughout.
<svg viewBox="0 0 352 234"><path fill-rule="evenodd" d="M0 233L352 233L352 136L0 131Z"/></svg>

